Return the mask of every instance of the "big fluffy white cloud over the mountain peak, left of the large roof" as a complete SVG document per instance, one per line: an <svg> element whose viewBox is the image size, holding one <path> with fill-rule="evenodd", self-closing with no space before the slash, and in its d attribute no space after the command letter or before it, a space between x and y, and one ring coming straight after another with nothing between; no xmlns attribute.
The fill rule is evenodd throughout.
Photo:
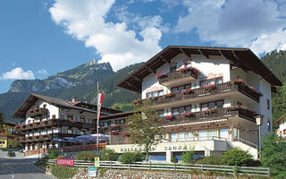
<svg viewBox="0 0 286 179"><path fill-rule="evenodd" d="M160 16L135 16L138 21L133 22L139 28L136 30L129 26L124 14L122 22L107 21L105 15L113 4L114 0L55 0L49 12L67 34L85 41L86 47L95 47L101 62L109 62L117 71L156 55L161 50L158 43L163 29Z"/></svg>

